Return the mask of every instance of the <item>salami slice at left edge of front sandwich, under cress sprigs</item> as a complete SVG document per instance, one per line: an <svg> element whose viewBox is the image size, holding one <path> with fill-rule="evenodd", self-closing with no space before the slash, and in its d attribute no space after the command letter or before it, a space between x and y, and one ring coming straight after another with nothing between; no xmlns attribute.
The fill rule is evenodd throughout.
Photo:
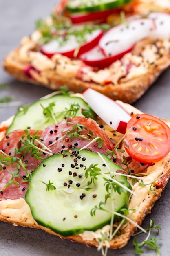
<svg viewBox="0 0 170 256"><path fill-rule="evenodd" d="M34 133L35 130L29 130L30 135L33 135ZM41 133L42 131L39 131L38 135ZM18 164L20 159L22 159L22 164L28 172L31 172L38 166L39 161L35 159L34 156L31 156L31 153L25 155L25 150L23 150L21 153L16 154L16 150L23 146L21 137L25 134L24 130L15 130L10 132L0 141L0 150L11 157L11 162L6 161L4 157L7 157L7 155L1 154L0 163L2 170L0 170L0 200L8 198L24 198L28 187L28 181L23 182L26 172L22 166ZM26 137L24 139L26 139ZM18 170L18 173L16 170ZM17 176L11 180L12 175ZM20 177L18 177L18 175L20 175ZM7 186L7 184L9 185ZM7 187L4 189L5 186Z"/></svg>

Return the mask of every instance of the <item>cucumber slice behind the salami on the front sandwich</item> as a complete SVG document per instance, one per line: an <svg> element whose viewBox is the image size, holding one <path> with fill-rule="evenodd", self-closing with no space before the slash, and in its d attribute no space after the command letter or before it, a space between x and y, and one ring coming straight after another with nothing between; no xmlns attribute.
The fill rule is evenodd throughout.
<svg viewBox="0 0 170 256"><path fill-rule="evenodd" d="M50 104L54 105L51 105L50 108L52 109L55 118L51 117L51 114L48 112L48 110L45 110L46 115L44 115L43 113L44 108L49 107ZM76 114L74 111L72 111L71 114L68 113L67 110L70 110L71 104L79 104L80 108ZM47 99L40 99L27 106L23 110L19 111L15 115L12 124L7 129L7 133L17 129L24 130L28 127L35 130L44 130L46 127L52 124L63 121L65 117L68 117L69 115L83 116L82 109L89 110L90 117L95 119L95 114L93 110L91 110L88 104L80 97L56 95Z"/></svg>

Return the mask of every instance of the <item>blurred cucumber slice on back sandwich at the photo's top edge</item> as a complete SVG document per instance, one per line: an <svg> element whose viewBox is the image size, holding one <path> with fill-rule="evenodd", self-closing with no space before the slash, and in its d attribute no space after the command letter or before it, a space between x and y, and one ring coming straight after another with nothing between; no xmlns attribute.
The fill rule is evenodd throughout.
<svg viewBox="0 0 170 256"><path fill-rule="evenodd" d="M132 0L69 0L67 9L70 12L93 12L116 9Z"/></svg>

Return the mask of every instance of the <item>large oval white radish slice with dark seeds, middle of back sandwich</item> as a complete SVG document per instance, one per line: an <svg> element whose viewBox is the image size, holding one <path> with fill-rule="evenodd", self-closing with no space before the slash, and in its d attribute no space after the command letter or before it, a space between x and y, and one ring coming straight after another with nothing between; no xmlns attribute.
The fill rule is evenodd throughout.
<svg viewBox="0 0 170 256"><path fill-rule="evenodd" d="M129 20L128 23L109 29L99 40L99 47L106 57L116 56L132 48L154 29L155 22L151 18Z"/></svg>

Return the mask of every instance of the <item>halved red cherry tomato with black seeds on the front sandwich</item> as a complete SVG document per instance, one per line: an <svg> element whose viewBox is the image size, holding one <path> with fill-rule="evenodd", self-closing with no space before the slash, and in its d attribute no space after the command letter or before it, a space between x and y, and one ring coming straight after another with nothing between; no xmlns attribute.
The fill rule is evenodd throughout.
<svg viewBox="0 0 170 256"><path fill-rule="evenodd" d="M130 130L129 130L130 129ZM162 120L148 114L132 117L127 125L126 151L142 163L157 162L170 152L170 128Z"/></svg>

